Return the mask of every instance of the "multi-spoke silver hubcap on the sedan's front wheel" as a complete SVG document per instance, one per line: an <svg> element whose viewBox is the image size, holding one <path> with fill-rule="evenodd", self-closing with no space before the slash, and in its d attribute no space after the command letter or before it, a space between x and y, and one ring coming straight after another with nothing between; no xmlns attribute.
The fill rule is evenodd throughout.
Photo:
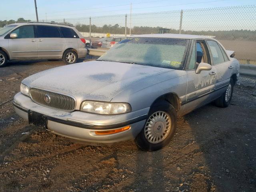
<svg viewBox="0 0 256 192"><path fill-rule="evenodd" d="M168 136L170 129L170 116L164 111L157 111L148 118L144 134L148 142L156 144L160 143Z"/></svg>

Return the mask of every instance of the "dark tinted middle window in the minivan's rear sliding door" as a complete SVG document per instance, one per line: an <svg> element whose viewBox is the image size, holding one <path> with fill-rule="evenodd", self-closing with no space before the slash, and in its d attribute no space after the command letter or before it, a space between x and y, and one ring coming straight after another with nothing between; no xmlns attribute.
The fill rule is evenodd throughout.
<svg viewBox="0 0 256 192"><path fill-rule="evenodd" d="M60 32L56 26L37 26L38 38L60 38Z"/></svg>

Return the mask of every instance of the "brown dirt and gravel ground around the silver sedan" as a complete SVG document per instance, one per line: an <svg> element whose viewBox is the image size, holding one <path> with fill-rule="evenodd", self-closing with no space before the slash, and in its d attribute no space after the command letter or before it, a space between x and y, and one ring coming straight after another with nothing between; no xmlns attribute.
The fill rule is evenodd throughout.
<svg viewBox="0 0 256 192"><path fill-rule="evenodd" d="M133 141L84 146L28 125L12 98L23 78L62 62L0 68L0 191L256 191L256 96L236 86L231 105L204 106L178 119L168 146L140 151Z"/></svg>

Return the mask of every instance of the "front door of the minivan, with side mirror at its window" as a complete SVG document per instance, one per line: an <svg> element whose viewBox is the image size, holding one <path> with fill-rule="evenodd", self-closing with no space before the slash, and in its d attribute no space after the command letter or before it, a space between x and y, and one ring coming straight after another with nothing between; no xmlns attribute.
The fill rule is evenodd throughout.
<svg viewBox="0 0 256 192"><path fill-rule="evenodd" d="M17 38L10 38L9 49L13 59L33 59L38 57L37 41L33 25L23 25L14 29L10 34L17 34Z"/></svg>

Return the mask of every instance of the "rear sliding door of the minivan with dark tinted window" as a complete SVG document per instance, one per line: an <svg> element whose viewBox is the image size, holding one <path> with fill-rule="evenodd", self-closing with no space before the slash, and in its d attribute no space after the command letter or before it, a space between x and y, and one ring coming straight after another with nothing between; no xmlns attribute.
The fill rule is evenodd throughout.
<svg viewBox="0 0 256 192"><path fill-rule="evenodd" d="M66 41L57 26L37 25L38 58L62 58Z"/></svg>

